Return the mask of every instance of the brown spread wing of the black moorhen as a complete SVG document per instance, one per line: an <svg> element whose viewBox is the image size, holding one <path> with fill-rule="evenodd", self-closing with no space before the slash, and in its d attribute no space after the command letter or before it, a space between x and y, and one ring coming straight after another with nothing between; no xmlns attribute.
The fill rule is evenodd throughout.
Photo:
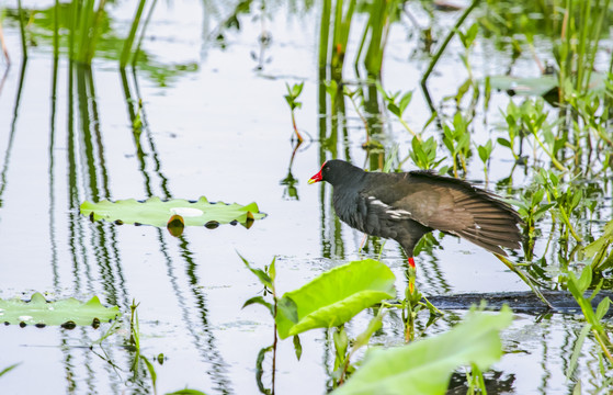
<svg viewBox="0 0 613 395"><path fill-rule="evenodd" d="M425 171L376 177L381 176L386 182L372 182L366 192L387 204L389 211L502 256L506 253L500 247L521 248L521 218L498 196L465 181Z"/></svg>

